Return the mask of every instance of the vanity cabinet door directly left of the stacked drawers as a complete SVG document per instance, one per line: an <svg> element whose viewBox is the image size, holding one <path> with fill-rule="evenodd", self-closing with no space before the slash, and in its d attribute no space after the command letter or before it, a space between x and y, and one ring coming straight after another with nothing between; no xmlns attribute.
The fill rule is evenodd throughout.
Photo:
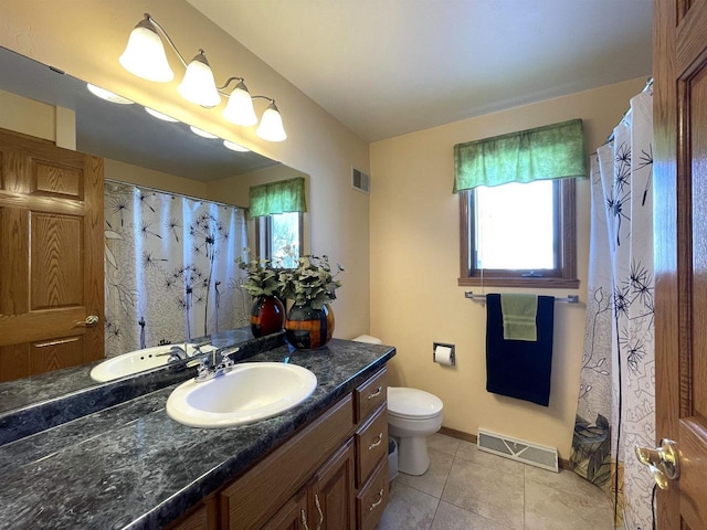
<svg viewBox="0 0 707 530"><path fill-rule="evenodd" d="M310 488L310 529L347 530L356 528L354 464L356 452L349 439L317 471Z"/></svg>

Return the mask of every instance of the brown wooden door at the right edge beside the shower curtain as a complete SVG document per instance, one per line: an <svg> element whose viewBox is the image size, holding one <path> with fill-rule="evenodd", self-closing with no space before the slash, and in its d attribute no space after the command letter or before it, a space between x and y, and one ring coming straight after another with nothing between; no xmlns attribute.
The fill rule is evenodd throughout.
<svg viewBox="0 0 707 530"><path fill-rule="evenodd" d="M656 434L680 476L658 529L707 528L707 0L654 2Z"/></svg>

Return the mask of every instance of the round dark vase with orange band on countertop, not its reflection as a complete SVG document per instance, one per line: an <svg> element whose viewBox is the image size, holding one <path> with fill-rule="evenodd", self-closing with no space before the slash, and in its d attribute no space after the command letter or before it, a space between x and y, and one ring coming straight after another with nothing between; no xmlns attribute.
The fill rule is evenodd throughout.
<svg viewBox="0 0 707 530"><path fill-rule="evenodd" d="M292 306L285 320L285 338L298 350L316 350L327 346L334 333L334 311L328 304L321 309L309 305Z"/></svg>

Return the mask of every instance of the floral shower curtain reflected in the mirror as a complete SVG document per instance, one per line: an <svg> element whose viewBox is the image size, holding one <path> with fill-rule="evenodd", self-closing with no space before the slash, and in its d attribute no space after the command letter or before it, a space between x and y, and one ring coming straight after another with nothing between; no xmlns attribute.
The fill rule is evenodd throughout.
<svg viewBox="0 0 707 530"><path fill-rule="evenodd" d="M105 184L106 357L246 326L245 212Z"/></svg>

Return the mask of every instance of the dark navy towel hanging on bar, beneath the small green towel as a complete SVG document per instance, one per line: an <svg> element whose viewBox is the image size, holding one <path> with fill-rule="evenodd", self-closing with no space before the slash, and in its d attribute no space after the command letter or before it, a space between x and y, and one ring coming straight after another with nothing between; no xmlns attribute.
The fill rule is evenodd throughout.
<svg viewBox="0 0 707 530"><path fill-rule="evenodd" d="M504 339L500 295L486 295L486 390L548 406L555 297L538 296L538 340Z"/></svg>

